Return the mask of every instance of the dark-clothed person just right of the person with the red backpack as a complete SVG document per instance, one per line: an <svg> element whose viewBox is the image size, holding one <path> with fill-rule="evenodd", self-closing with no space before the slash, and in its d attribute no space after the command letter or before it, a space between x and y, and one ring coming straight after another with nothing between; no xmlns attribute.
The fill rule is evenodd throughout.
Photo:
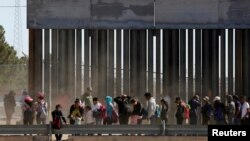
<svg viewBox="0 0 250 141"><path fill-rule="evenodd" d="M198 123L198 107L201 107L201 103L199 101L199 96L196 94L193 96L193 98L188 102L190 105L190 124L191 125L197 125Z"/></svg>

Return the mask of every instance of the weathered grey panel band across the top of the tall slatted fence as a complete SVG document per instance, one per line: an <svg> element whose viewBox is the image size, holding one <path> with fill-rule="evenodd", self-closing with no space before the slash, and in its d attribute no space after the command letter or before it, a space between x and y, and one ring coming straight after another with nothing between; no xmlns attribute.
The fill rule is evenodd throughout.
<svg viewBox="0 0 250 141"><path fill-rule="evenodd" d="M27 0L28 28L249 28L249 0Z"/></svg>

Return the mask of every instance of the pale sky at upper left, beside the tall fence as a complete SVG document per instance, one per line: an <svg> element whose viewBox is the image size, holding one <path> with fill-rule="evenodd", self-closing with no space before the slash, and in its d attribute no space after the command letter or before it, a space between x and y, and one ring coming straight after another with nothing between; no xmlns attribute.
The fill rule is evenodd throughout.
<svg viewBox="0 0 250 141"><path fill-rule="evenodd" d="M27 0L20 0L21 6L26 6ZM15 19L15 0L0 0L0 25L5 29L6 41L13 46L14 45L14 19ZM20 31L22 46L14 47L18 56L22 55L22 52L28 54L28 30L26 24L26 7L20 7L21 9L21 21Z"/></svg>

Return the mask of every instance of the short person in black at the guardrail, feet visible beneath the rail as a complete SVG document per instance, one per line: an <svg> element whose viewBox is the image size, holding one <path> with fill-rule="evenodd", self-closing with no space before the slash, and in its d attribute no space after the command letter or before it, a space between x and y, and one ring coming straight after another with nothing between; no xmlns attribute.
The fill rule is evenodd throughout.
<svg viewBox="0 0 250 141"><path fill-rule="evenodd" d="M65 124L67 121L62 114L62 106L60 104L56 105L55 110L51 113L52 115L52 128L53 129L60 129L62 126L62 120ZM55 134L56 140L60 141L62 139L62 134Z"/></svg>

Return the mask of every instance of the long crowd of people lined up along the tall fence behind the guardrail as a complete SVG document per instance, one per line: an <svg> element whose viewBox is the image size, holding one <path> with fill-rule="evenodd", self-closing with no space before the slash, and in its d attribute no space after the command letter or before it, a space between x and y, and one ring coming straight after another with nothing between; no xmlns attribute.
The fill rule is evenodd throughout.
<svg viewBox="0 0 250 141"><path fill-rule="evenodd" d="M38 92L34 101L26 91L22 98L22 116L23 124L31 125L33 121L36 124L46 124L48 120L48 102L45 100L45 94ZM10 119L15 108L15 93L10 91L4 97L4 106L7 107L6 119L10 124ZM92 96L92 88L88 87L86 92L79 98L76 98L74 104L69 108L67 115L69 124L81 125L106 125L106 124L142 124L143 120L149 121L150 124L157 124L157 121L168 123L169 100L161 98L159 105L151 93L144 94L145 99L137 99L126 94L117 97L106 96L105 102L101 103L98 97ZM146 103L143 105L142 103ZM188 102L182 100L181 97L175 98L176 124L197 125L199 119L201 124L223 125L240 125L250 123L250 107L249 98L245 96L227 95L226 101L223 102L219 96L215 96L210 103L210 97L204 96L202 101L198 94L195 94ZM117 106L114 106L117 105ZM171 105L172 106L172 105ZM117 108L116 108L117 107ZM66 107L63 107L66 108ZM62 106L56 105L55 111L60 111ZM52 112L54 119L55 113ZM60 112L60 117L63 117ZM35 120L34 120L35 119ZM66 122L66 120L64 120Z"/></svg>

